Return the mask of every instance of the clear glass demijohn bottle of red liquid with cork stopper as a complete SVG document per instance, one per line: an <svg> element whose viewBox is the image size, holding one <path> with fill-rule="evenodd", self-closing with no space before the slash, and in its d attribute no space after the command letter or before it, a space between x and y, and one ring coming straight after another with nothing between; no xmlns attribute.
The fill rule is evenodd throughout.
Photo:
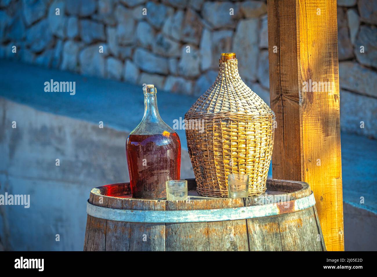
<svg viewBox="0 0 377 277"><path fill-rule="evenodd" d="M156 88L143 91L144 116L126 142L131 192L134 198L164 199L165 182L180 179L181 141L158 113Z"/></svg>

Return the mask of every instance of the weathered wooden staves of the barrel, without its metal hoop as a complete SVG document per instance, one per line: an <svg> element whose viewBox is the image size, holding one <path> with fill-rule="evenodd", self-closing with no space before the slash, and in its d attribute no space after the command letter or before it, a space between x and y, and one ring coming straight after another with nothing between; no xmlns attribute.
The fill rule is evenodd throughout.
<svg viewBox="0 0 377 277"><path fill-rule="evenodd" d="M195 179L188 179L195 189ZM267 180L270 191L296 200L311 194L303 182ZM186 201L125 198L129 183L95 188L89 202L123 210L208 210L261 205L265 196ZM107 196L110 194L111 196ZM114 197L120 196L120 197ZM284 205L282 203L281 205ZM87 217L84 251L324 251L315 206L276 216L218 222L139 223Z"/></svg>

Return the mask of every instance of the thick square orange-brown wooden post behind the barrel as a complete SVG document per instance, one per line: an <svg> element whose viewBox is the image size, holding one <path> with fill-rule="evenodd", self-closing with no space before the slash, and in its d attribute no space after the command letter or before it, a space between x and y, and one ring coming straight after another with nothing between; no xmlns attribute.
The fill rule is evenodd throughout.
<svg viewBox="0 0 377 277"><path fill-rule="evenodd" d="M326 248L344 250L336 0L269 0L274 179L314 191Z"/></svg>

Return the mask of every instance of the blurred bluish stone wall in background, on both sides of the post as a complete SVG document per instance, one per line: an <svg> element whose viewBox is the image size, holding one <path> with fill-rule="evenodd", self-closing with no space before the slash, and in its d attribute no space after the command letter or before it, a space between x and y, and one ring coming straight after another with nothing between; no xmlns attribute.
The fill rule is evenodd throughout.
<svg viewBox="0 0 377 277"><path fill-rule="evenodd" d="M377 0L338 1L342 130L374 137L376 24ZM265 1L1 0L0 40L0 58L196 96L220 53L236 52L241 77L269 103Z"/></svg>

